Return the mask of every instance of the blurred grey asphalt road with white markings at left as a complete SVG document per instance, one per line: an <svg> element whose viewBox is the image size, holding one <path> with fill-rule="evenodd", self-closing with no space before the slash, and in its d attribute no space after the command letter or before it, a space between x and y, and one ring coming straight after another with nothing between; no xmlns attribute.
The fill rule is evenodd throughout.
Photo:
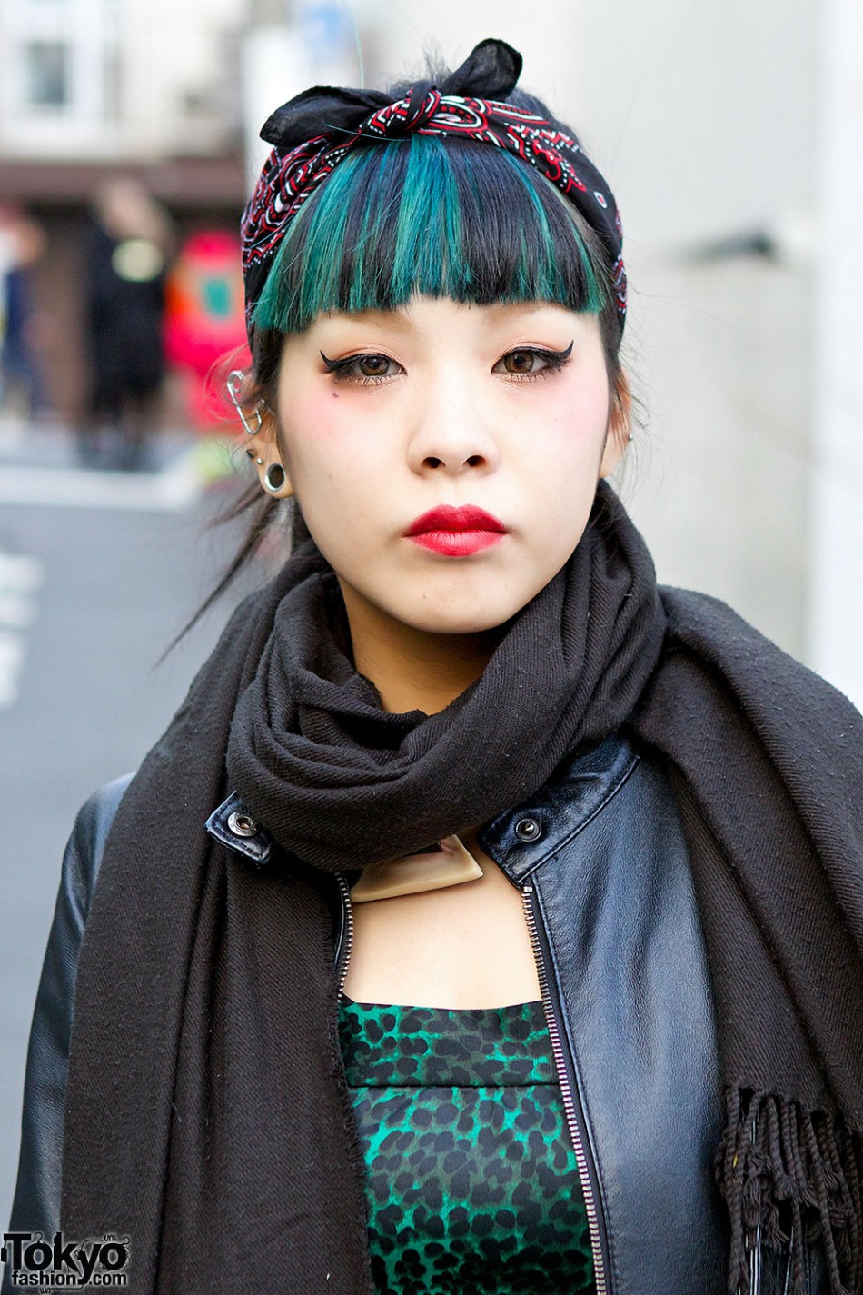
<svg viewBox="0 0 863 1295"><path fill-rule="evenodd" d="M224 504L171 447L159 473L76 470L58 438L0 443L0 1221L62 850L78 807L135 769L235 600L158 658L233 550ZM216 495L219 492L215 492Z"/></svg>

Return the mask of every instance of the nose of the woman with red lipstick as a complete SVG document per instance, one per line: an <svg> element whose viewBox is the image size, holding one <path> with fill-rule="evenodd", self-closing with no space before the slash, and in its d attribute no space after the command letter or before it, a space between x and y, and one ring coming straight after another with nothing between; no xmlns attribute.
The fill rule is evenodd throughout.
<svg viewBox="0 0 863 1295"><path fill-rule="evenodd" d="M488 414L471 383L450 377L430 385L417 400L410 467L452 475L489 471L498 461L498 445Z"/></svg>

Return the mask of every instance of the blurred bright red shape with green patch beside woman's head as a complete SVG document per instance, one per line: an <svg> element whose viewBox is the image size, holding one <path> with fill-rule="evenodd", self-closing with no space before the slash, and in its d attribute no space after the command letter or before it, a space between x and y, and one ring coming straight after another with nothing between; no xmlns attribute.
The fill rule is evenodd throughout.
<svg viewBox="0 0 863 1295"><path fill-rule="evenodd" d="M251 363L239 238L226 229L191 234L171 268L166 293L166 355L182 376L189 420L199 431L210 431L229 414L221 390L226 370Z"/></svg>

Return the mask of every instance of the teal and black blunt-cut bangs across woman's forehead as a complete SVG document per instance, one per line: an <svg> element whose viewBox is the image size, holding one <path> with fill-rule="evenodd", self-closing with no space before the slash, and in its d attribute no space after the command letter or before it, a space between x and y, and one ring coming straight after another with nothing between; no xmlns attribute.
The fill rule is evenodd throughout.
<svg viewBox="0 0 863 1295"><path fill-rule="evenodd" d="M505 149L413 135L356 146L282 240L255 329L299 333L331 311L457 302L609 304L593 232Z"/></svg>

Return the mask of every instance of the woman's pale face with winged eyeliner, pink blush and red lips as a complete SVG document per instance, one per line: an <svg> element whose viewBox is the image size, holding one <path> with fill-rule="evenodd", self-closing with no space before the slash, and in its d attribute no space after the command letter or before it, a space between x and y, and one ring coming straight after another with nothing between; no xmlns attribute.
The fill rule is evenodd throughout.
<svg viewBox="0 0 863 1295"><path fill-rule="evenodd" d="M435 633L499 625L547 584L622 439L596 317L543 302L320 316L285 339L277 407L348 611Z"/></svg>

